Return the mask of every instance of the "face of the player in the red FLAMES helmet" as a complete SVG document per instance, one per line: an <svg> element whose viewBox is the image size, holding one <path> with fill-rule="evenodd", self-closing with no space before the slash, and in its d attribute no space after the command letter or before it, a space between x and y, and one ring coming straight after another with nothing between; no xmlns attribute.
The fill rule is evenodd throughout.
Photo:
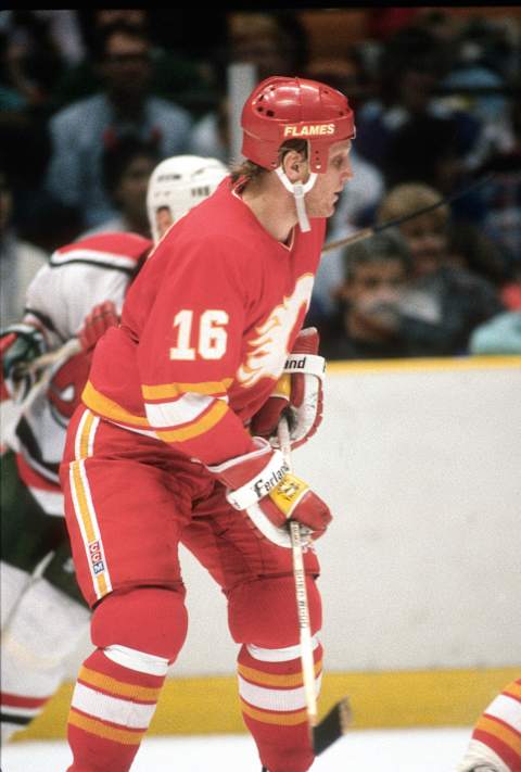
<svg viewBox="0 0 521 772"><path fill-rule="evenodd" d="M345 182L353 177L350 161L351 140L335 142L329 149L328 168L317 176L306 194L309 217L331 217Z"/></svg>

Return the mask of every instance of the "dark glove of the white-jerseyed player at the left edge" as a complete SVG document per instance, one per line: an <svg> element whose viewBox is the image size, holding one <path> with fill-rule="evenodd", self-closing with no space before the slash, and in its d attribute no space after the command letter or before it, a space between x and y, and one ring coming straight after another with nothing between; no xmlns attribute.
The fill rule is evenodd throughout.
<svg viewBox="0 0 521 772"><path fill-rule="evenodd" d="M13 400L24 400L38 377L37 371L25 371L25 366L45 353L43 334L33 325L11 325L2 331L0 351L2 392L5 390Z"/></svg>

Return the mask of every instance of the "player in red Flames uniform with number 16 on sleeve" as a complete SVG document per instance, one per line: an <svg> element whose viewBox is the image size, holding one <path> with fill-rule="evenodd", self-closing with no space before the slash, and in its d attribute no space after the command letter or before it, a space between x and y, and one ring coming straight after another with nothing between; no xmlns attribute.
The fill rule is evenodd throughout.
<svg viewBox="0 0 521 772"><path fill-rule="evenodd" d="M178 543L196 524L193 552L220 579L241 644L241 708L262 764L314 761L287 522L317 539L331 515L254 428L272 419L326 218L351 177L353 113L323 84L274 77L246 100L242 128L245 162L162 239L97 345L68 427L60 474L96 646L72 698L69 772L130 769L186 637ZM319 400L292 414L297 444ZM314 548L304 561L318 691Z"/></svg>

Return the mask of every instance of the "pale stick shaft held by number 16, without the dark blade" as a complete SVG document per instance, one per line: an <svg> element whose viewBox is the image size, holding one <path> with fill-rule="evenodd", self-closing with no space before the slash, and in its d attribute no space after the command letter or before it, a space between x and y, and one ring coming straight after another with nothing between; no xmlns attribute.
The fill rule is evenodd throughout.
<svg viewBox="0 0 521 772"><path fill-rule="evenodd" d="M290 432L288 421L284 417L279 422L279 443L285 456L288 465L290 463ZM309 604L307 600L306 574L304 571L304 558L302 550L301 527L296 521L290 522L291 552L293 557L293 578L295 580L295 599L298 616L300 643L302 675L304 681L304 693L306 697L306 710L309 726L313 729L317 724L317 696L315 692L315 662L313 659L312 625L309 622Z"/></svg>

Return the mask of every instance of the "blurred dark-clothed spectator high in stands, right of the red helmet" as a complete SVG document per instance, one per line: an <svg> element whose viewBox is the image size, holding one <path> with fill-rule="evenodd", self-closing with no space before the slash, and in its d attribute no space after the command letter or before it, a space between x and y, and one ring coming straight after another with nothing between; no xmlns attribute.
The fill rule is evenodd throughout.
<svg viewBox="0 0 521 772"><path fill-rule="evenodd" d="M448 192L465 172L480 122L436 102L449 63L446 48L421 27L401 29L383 49L380 94L357 115L357 150L387 188L415 179Z"/></svg>

